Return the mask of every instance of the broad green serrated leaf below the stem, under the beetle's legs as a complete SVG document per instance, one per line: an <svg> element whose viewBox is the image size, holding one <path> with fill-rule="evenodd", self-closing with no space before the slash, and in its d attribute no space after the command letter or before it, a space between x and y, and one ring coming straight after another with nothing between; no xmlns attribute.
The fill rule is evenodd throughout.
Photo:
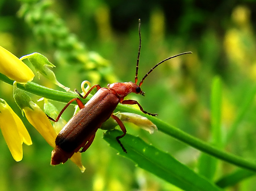
<svg viewBox="0 0 256 191"><path fill-rule="evenodd" d="M164 153L155 147L146 144L139 137L126 134L121 139L127 153L124 153L120 145L116 141L116 136L120 136L122 132L118 130L107 131L104 139L119 154L131 159L139 167L147 170L169 183L180 187L185 191L220 191L221 189L190 170L187 166L181 164L168 153Z"/></svg>

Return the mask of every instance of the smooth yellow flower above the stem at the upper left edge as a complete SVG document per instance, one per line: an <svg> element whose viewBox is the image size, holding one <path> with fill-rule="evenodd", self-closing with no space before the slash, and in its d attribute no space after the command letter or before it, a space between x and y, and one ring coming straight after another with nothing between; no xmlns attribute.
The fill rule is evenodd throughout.
<svg viewBox="0 0 256 191"><path fill-rule="evenodd" d="M0 73L21 84L26 84L28 81L32 81L35 76L26 64L1 46Z"/></svg>

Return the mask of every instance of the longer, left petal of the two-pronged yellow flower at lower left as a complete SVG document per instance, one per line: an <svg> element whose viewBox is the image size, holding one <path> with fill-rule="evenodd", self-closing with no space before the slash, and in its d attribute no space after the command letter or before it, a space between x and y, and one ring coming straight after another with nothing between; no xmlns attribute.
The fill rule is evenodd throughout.
<svg viewBox="0 0 256 191"><path fill-rule="evenodd" d="M5 104L0 102L0 128L14 160L21 161L23 157L22 140L10 109L6 102Z"/></svg>

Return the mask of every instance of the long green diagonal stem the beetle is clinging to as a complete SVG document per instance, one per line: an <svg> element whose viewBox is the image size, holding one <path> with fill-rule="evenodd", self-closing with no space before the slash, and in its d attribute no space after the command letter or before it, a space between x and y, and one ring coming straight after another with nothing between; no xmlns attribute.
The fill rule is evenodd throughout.
<svg viewBox="0 0 256 191"><path fill-rule="evenodd" d="M13 85L13 81L9 80L4 75L0 74L0 80L5 81L6 83ZM33 82L28 82L26 85L18 85L18 88L21 88L27 92L34 93L36 95L39 95L44 98L48 98L51 100L55 100L58 102L69 102L72 98L75 98L76 95L74 93L66 93L61 92L53 89L46 88L41 85L37 85ZM89 98L85 99L85 101L88 101ZM190 136L189 134L181 131L180 129L176 127L172 127L171 125L161 121L160 119L157 119L155 117L145 115L140 110L136 110L130 106L121 105L119 104L117 106L117 110L121 112L130 112L130 113L137 113L139 115L143 115L150 119L159 129L159 131L172 136L176 138L177 140L180 140L186 144L189 144L190 146L194 147L195 149L199 149L202 152L208 153L209 155L212 155L213 157L219 158L223 161L229 162L231 164L234 164L236 166L240 166L242 168L256 171L256 164L252 163L250 161L244 160L242 157L237 157L233 154L226 153L224 151L221 151L220 149L216 149L216 147L211 146L210 144L205 143L202 140L199 140L193 136Z"/></svg>

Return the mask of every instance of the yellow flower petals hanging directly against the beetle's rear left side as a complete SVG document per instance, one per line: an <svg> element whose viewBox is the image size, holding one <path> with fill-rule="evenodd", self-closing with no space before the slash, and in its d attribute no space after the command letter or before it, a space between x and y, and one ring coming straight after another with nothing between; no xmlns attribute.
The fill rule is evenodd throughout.
<svg viewBox="0 0 256 191"><path fill-rule="evenodd" d="M30 107L25 107L23 109L26 119L33 125L33 127L35 127L41 136L44 137L47 143L54 148L57 133L54 131L53 126L44 111L42 111L34 102L30 103L33 109Z"/></svg>

